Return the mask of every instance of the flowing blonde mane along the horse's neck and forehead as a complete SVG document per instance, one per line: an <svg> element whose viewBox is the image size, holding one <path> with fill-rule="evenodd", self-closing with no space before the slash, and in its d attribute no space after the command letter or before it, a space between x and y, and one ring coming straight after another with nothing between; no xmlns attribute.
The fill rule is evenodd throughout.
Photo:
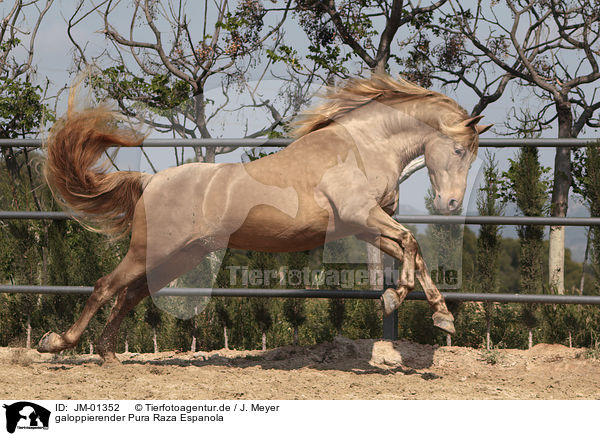
<svg viewBox="0 0 600 436"><path fill-rule="evenodd" d="M372 101L393 99L395 103L399 103L413 99L434 99L447 112L435 127L444 134L464 139L472 148L477 146L477 141L470 140L476 136L474 129L458 126L461 121L469 118L458 103L444 94L422 88L402 78L393 79L383 74L374 74L369 79L352 78L339 88L328 88L323 98L323 103L302 113L294 122L294 137L299 138L322 129L344 114Z"/></svg>

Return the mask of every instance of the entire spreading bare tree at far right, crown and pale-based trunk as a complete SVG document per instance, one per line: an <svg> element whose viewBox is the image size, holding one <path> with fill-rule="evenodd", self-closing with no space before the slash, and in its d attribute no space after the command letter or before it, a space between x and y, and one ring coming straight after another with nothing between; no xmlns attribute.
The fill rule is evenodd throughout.
<svg viewBox="0 0 600 436"><path fill-rule="evenodd" d="M559 138L600 127L600 10L588 1L478 1L472 9L451 0L435 31L443 42L427 47L434 77L466 85L479 101L473 115L500 99L511 81L534 97L536 130L556 125ZM431 64L430 64L431 65ZM521 113L513 113L517 131ZM556 149L551 214L567 215L571 150ZM550 229L550 286L564 293L564 227Z"/></svg>

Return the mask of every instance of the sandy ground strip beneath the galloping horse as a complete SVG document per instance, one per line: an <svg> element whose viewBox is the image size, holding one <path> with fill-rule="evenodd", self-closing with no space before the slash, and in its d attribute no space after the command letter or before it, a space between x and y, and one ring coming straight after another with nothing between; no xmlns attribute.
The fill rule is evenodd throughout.
<svg viewBox="0 0 600 436"><path fill-rule="evenodd" d="M600 360L540 344L486 352L407 341L210 353L53 356L0 348L0 399L595 399Z"/></svg>

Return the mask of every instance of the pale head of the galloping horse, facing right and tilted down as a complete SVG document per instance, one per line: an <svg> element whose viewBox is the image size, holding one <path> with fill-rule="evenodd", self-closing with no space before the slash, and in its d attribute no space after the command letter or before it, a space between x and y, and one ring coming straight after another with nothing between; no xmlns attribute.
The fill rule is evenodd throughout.
<svg viewBox="0 0 600 436"><path fill-rule="evenodd" d="M477 156L479 135L492 127L478 125L482 117L469 118L426 138L425 164L435 196L433 206L440 213L449 214L462 206L469 167Z"/></svg>

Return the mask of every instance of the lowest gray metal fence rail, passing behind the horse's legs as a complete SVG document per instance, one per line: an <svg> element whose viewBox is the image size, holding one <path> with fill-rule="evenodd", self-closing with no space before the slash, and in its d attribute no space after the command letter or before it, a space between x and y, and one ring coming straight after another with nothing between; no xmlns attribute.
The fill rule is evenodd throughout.
<svg viewBox="0 0 600 436"><path fill-rule="evenodd" d="M89 295L91 286L0 285L0 293ZM171 297L268 297L268 298L348 298L378 299L382 291L331 289L246 289L246 288L164 288L155 295ZM598 295L485 294L442 292L446 301L485 301L496 303L600 304ZM410 292L407 300L426 300L423 292Z"/></svg>

